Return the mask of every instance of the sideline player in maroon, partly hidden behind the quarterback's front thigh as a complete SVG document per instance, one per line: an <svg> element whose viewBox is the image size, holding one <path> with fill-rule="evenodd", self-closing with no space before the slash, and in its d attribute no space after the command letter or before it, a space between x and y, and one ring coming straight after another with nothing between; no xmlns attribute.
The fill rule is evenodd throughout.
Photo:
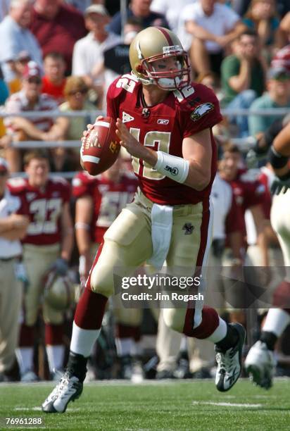
<svg viewBox="0 0 290 431"><path fill-rule="evenodd" d="M103 235L122 208L132 202L137 179L124 170L124 159L119 156L111 168L99 177L85 171L73 179L75 203L75 232L80 254L80 278L84 286L94 256L103 241ZM132 352L136 351L135 338L139 336L141 310L125 309L115 296L116 347L120 357L121 375L132 376Z"/></svg>

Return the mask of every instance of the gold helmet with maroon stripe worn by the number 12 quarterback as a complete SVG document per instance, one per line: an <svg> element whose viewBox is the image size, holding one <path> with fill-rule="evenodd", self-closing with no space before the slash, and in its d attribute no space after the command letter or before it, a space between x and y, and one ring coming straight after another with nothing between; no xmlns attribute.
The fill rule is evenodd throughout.
<svg viewBox="0 0 290 431"><path fill-rule="evenodd" d="M187 51L175 33L163 27L147 27L130 45L132 73L144 85L158 85L161 89L175 90L189 85L190 66ZM175 58L175 68L156 70L163 58Z"/></svg>

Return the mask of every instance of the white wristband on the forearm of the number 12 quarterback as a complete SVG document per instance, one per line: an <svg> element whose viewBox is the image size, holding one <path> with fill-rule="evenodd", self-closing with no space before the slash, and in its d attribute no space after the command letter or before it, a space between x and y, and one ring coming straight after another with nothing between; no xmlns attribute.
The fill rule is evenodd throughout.
<svg viewBox="0 0 290 431"><path fill-rule="evenodd" d="M163 151L157 151L157 163L154 166L159 173L176 182L183 183L189 173L189 161L182 157L172 156Z"/></svg>

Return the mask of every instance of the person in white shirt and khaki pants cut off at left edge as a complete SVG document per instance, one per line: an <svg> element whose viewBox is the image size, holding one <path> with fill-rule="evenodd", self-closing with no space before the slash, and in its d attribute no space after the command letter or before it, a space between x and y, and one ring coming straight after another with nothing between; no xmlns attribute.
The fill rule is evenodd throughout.
<svg viewBox="0 0 290 431"><path fill-rule="evenodd" d="M11 196L6 185L8 164L0 158L0 382L9 381L18 346L22 285L15 266L22 255L20 239L25 237L28 218L18 196ZM18 267L19 268L19 267Z"/></svg>

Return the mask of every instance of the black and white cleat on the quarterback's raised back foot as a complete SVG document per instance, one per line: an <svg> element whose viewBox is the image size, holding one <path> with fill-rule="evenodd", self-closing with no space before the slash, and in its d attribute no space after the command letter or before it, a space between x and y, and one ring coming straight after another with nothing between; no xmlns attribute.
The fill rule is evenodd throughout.
<svg viewBox="0 0 290 431"><path fill-rule="evenodd" d="M215 359L217 371L215 374L215 386L220 392L226 392L237 382L241 375L241 353L246 337L244 326L239 323L230 323L239 334L237 344L226 351L215 346Z"/></svg>

